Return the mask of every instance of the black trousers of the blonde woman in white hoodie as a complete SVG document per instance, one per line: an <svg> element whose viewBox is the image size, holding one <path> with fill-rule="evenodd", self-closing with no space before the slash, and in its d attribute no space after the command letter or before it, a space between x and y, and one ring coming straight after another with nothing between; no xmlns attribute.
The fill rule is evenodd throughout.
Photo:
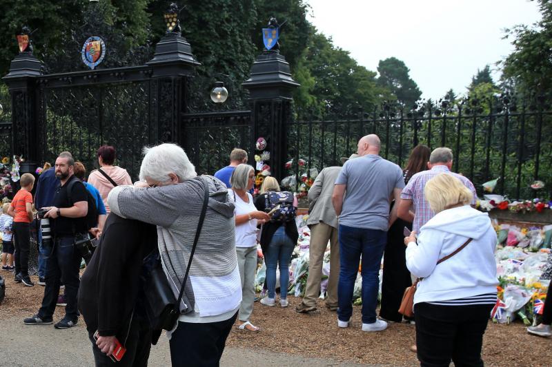
<svg viewBox="0 0 552 367"><path fill-rule="evenodd" d="M482 367L483 334L492 304L414 306L417 357L422 367Z"/></svg>

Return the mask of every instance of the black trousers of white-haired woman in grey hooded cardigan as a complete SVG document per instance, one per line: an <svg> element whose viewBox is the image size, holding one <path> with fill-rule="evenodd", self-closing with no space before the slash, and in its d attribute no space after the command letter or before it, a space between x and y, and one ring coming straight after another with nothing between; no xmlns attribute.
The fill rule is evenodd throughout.
<svg viewBox="0 0 552 367"><path fill-rule="evenodd" d="M179 322L170 337L172 367L219 366L236 317L237 313L227 320L206 324Z"/></svg>

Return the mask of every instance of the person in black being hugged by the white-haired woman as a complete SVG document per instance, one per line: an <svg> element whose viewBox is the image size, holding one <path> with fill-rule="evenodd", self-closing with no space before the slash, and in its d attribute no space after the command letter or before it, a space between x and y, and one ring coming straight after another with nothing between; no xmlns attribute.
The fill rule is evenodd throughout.
<svg viewBox="0 0 552 367"><path fill-rule="evenodd" d="M79 291L79 311L96 366L113 365L109 356L115 339L126 348L117 366L147 366L152 331L143 306L147 301L141 271L144 258L156 248L155 226L114 213L108 217Z"/></svg>

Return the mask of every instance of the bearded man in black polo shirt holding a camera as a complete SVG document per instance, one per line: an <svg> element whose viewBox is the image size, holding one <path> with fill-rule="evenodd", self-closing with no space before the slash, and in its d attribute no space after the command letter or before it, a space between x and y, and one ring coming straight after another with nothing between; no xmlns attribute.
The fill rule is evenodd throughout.
<svg viewBox="0 0 552 367"><path fill-rule="evenodd" d="M74 164L71 154L66 151L56 159L55 174L60 185L56 189L53 206L42 208L48 210L43 216L50 219L53 238L46 263L46 288L39 312L23 320L27 325L53 323L60 279L66 286L66 315L54 327L70 328L77 324L77 292L82 255L75 243L88 236L88 194L83 183L74 176Z"/></svg>

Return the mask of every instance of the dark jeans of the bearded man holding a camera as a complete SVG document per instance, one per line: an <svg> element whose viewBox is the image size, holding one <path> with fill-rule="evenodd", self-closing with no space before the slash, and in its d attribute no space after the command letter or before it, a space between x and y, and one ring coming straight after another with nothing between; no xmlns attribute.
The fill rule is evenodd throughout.
<svg viewBox="0 0 552 367"><path fill-rule="evenodd" d="M65 313L68 319L76 322L79 318L77 311L77 292L79 291L79 269L82 255L73 245L75 238L56 238L52 254L46 262L46 287L38 316L48 319L54 314L57 297L59 296L60 280L65 284L67 306Z"/></svg>

